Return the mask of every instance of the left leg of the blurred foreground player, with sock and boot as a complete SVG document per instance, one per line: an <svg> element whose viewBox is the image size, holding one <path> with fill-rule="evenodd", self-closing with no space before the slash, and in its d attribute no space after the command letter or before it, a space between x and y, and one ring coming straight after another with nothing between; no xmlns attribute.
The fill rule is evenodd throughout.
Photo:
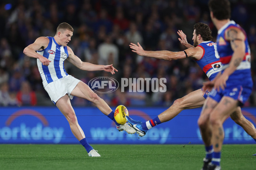
<svg viewBox="0 0 256 170"><path fill-rule="evenodd" d="M200 117L198 119L198 126L200 128L201 136L204 141L206 156L204 158L204 165L201 170L207 170L208 164L212 161L212 127L209 123L210 113L218 103L212 98L207 98Z"/></svg>

